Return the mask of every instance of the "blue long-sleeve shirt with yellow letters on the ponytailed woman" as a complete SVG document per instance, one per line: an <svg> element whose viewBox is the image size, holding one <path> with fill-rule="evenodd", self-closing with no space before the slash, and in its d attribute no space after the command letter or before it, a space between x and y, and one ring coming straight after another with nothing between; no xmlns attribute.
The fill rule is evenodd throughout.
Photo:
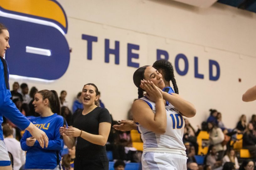
<svg viewBox="0 0 256 170"><path fill-rule="evenodd" d="M38 141L34 146L28 146L26 139L30 138L31 134L25 131L20 140L22 150L27 151L25 169L54 169L60 162L60 151L64 147L59 128L63 125L67 126L67 123L56 113L48 117L36 117L31 119L31 122L46 133L49 143L47 148L41 148Z"/></svg>

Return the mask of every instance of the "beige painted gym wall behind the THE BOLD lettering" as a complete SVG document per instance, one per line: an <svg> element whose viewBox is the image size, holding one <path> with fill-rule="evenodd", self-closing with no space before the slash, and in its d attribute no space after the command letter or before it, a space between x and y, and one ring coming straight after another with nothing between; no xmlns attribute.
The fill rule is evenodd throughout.
<svg viewBox="0 0 256 170"><path fill-rule="evenodd" d="M256 84L256 14L220 3L200 9L169 0L59 0L68 20L66 35L72 48L67 72L58 80L46 83L25 79L29 88L67 90L72 107L76 94L85 83L95 83L101 99L115 120L126 118L137 89L132 75L136 68L127 66L127 43L140 46L139 59L133 62L152 65L156 50L169 53L169 61L183 53L189 60L185 76L175 72L180 95L193 103L197 114L189 121L194 125L205 120L210 108L223 114L223 122L233 128L241 114L255 114L255 102L242 102L242 94ZM93 59L87 60L87 41L82 34L98 37L93 42ZM104 40L120 42L120 64L114 56L104 63ZM11 40L10 40L11 41ZM199 58L199 73L194 77L194 57ZM209 80L209 59L221 69L218 81ZM183 68L180 63L180 68ZM238 78L242 82L238 82Z"/></svg>

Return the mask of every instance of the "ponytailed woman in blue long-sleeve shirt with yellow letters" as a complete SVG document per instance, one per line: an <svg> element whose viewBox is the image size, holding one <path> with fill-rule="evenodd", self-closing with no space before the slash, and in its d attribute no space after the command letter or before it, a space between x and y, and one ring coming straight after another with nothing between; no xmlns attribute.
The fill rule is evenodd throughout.
<svg viewBox="0 0 256 170"><path fill-rule="evenodd" d="M64 143L59 128L66 124L60 116L60 101L56 91L41 90L35 94L33 102L35 112L40 117L31 119L31 122L43 130L48 138L48 148L41 148L38 141L25 131L20 140L21 148L27 151L25 169L58 169L60 167L60 151Z"/></svg>

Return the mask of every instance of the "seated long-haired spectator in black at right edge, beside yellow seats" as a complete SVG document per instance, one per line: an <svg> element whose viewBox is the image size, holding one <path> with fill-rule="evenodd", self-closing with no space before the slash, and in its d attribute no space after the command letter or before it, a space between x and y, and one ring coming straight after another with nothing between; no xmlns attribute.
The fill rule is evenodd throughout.
<svg viewBox="0 0 256 170"><path fill-rule="evenodd" d="M251 156L256 158L256 132L253 129L253 124L248 123L246 130L243 133L243 148L248 149Z"/></svg>

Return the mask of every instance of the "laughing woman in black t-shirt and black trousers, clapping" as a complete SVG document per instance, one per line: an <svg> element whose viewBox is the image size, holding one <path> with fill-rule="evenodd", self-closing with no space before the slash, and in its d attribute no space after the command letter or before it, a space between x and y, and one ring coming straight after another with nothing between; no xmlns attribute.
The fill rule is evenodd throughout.
<svg viewBox="0 0 256 170"><path fill-rule="evenodd" d="M81 99L83 110L72 115L72 127L61 127L60 133L68 148L76 145L75 170L108 170L109 161L105 144L111 127L109 111L96 105L98 88L88 83L84 85Z"/></svg>

